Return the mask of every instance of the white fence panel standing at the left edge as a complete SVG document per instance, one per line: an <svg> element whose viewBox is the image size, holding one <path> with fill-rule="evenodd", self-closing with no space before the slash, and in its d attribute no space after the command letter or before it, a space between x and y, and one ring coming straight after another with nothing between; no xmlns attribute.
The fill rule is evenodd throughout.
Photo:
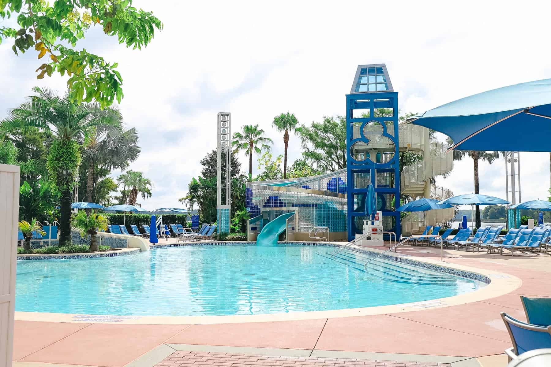
<svg viewBox="0 0 551 367"><path fill-rule="evenodd" d="M0 365L10 367L13 353L19 167L0 165Z"/></svg>

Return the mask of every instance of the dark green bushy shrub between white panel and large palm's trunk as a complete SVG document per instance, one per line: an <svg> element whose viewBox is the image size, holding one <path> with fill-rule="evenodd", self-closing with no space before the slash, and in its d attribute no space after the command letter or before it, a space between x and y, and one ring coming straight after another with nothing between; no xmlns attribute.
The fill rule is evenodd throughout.
<svg viewBox="0 0 551 367"><path fill-rule="evenodd" d="M60 193L51 181L42 178L31 183L25 181L19 188L19 218L51 221L59 200Z"/></svg>

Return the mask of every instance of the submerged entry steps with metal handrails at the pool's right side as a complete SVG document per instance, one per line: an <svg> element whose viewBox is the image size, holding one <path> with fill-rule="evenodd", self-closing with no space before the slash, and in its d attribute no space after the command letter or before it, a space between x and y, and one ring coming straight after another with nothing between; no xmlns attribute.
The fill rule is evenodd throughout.
<svg viewBox="0 0 551 367"><path fill-rule="evenodd" d="M456 286L456 281L449 276L438 275L438 273L425 270L418 266L403 264L382 258L375 259L364 267L365 263L373 259L373 256L362 254L353 250L344 250L337 255L330 253L317 253L331 261L337 261L343 266L349 266L354 270L365 272L368 278L380 278L381 280L406 283L426 284L439 286Z"/></svg>

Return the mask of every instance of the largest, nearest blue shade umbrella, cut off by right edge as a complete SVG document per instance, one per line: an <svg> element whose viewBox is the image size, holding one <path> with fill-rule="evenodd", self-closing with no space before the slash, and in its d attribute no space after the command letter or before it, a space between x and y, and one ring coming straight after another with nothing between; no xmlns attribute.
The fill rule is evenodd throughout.
<svg viewBox="0 0 551 367"><path fill-rule="evenodd" d="M551 79L489 90L408 119L453 140L453 149L551 151Z"/></svg>

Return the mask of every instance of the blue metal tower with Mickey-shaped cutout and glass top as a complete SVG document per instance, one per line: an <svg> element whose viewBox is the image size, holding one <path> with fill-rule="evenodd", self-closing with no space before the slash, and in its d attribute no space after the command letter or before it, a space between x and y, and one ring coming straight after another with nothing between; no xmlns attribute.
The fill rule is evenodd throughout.
<svg viewBox="0 0 551 367"><path fill-rule="evenodd" d="M372 72L372 70L376 70ZM392 109L392 117L374 117L377 108ZM369 117L367 116L369 110ZM381 111L381 110L379 110ZM399 144L398 144L398 92L393 91L392 83L385 64L358 65L350 94L346 95L346 122L347 122L347 200L348 200L348 240L355 238L356 233L363 233L360 222L365 217L365 201L367 185L373 184L377 195L377 210L382 210L383 229L401 234L400 213L395 209L400 202L400 171L399 171ZM378 122L382 126L382 136L390 139L394 144L394 154L387 162L375 162L369 157L352 154L354 143L367 144L370 148L370 139L366 137L364 128L367 124ZM393 123L393 132L387 131L387 123ZM361 123L360 136L354 138L353 125ZM356 126L357 127L357 126ZM392 134L393 133L393 134ZM387 152L390 154L390 152ZM360 157L362 160L354 158ZM382 185L377 182L378 174L387 174L393 178L390 185ZM359 179L362 178L362 179ZM387 203L385 198L393 195L394 205ZM382 209L380 207L382 206ZM390 217L385 221L385 217ZM356 225L358 220L358 225Z"/></svg>

